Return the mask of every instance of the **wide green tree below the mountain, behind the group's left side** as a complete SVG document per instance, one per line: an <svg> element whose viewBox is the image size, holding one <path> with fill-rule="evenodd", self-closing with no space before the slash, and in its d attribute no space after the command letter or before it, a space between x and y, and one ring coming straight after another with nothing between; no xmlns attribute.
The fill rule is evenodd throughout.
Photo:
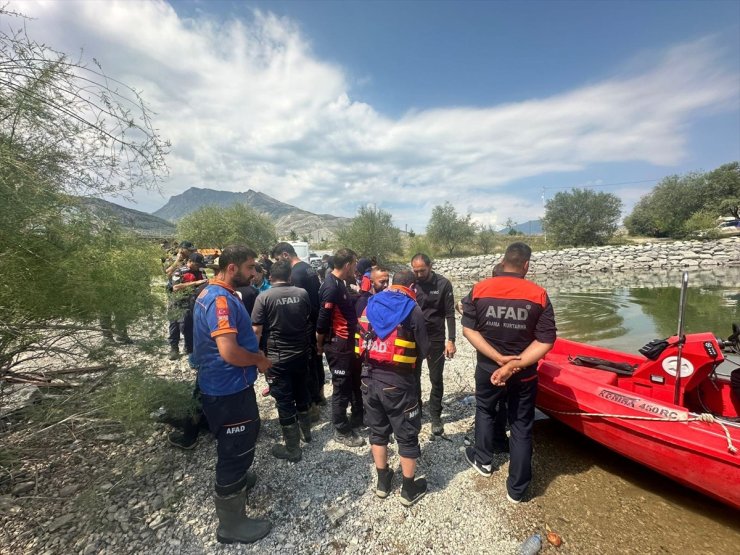
<svg viewBox="0 0 740 555"><path fill-rule="evenodd" d="M246 204L204 206L177 222L177 235L199 247L243 244L257 252L269 251L277 242L272 221Z"/></svg>

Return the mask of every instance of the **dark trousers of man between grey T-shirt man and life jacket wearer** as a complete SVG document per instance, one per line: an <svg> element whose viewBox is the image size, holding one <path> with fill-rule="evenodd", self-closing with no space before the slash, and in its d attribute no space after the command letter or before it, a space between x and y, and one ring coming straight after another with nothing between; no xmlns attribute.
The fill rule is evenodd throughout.
<svg viewBox="0 0 740 555"><path fill-rule="evenodd" d="M350 403L354 401L352 413L362 415L362 393L359 391L360 366L355 357L354 339L332 337L324 352L331 370L331 383L334 389L331 397L332 424L339 433L348 434L352 430L347 418L347 407Z"/></svg>

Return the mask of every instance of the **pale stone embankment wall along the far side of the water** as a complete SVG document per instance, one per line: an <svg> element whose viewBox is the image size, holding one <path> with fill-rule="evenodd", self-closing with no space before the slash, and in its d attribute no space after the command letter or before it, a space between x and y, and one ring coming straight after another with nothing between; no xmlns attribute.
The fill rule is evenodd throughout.
<svg viewBox="0 0 740 555"><path fill-rule="evenodd" d="M436 260L435 270L459 280L491 275L503 253ZM535 275L716 268L740 264L740 237L716 241L655 242L640 245L584 247L532 253Z"/></svg>

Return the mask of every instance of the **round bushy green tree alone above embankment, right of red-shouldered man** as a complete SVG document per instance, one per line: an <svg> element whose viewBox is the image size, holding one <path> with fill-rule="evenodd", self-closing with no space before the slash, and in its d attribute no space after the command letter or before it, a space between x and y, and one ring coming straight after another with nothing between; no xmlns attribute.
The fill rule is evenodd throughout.
<svg viewBox="0 0 740 555"><path fill-rule="evenodd" d="M545 207L547 233L556 245L604 245L617 230L622 201L611 193L572 189Z"/></svg>

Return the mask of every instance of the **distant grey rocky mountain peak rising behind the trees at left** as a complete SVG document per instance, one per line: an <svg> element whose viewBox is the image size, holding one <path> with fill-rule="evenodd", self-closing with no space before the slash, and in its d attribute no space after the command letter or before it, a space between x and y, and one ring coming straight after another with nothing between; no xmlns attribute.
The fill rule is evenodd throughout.
<svg viewBox="0 0 740 555"><path fill-rule="evenodd" d="M287 237L291 231L295 231L299 237L306 236L312 241L330 239L339 227L349 222L348 218L301 210L252 189L243 193L232 193L198 187L191 187L179 195L170 197L167 204L154 212L154 216L177 222L203 206L226 208L232 204L247 204L258 212L267 214L275 224L278 237Z"/></svg>

